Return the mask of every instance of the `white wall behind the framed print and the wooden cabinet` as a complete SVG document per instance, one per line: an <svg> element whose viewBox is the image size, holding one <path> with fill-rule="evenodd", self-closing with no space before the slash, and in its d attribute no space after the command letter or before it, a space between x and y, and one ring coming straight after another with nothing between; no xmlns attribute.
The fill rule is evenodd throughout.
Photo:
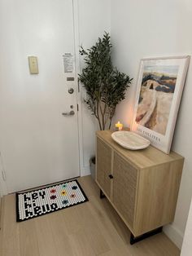
<svg viewBox="0 0 192 256"><path fill-rule="evenodd" d="M192 46L192 2L190 0L111 0L113 60L134 78L116 118L130 125L139 61L143 57L190 55ZM174 222L164 232L181 248L192 194L192 64L181 100L172 149L185 157Z"/></svg>

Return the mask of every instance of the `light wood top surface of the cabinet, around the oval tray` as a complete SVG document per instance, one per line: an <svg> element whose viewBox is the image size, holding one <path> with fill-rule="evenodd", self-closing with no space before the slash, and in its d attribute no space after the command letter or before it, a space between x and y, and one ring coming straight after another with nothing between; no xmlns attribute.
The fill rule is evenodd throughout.
<svg viewBox="0 0 192 256"><path fill-rule="evenodd" d="M98 130L96 135L98 138L103 139L111 148L114 148L116 152L119 152L123 157L127 158L133 163L133 166L137 168L147 168L151 166L157 166L160 164L168 163L170 161L177 161L184 159L176 152L170 152L165 154L159 151L159 149L149 146L142 150L129 150L122 148L111 138L111 130Z"/></svg>

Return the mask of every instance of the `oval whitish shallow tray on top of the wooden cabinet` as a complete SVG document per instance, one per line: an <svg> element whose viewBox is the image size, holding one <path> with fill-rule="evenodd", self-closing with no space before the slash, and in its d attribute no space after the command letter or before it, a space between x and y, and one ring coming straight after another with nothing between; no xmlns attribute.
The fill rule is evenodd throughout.
<svg viewBox="0 0 192 256"><path fill-rule="evenodd" d="M132 131L115 131L111 134L111 137L116 141L116 143L120 144L121 147L131 150L147 148L150 145L150 141L148 139L145 139Z"/></svg>

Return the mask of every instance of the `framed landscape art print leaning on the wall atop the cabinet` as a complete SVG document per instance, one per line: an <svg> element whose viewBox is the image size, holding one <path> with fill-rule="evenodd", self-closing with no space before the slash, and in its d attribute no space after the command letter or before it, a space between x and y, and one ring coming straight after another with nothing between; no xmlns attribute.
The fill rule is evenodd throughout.
<svg viewBox="0 0 192 256"><path fill-rule="evenodd" d="M170 152L190 56L142 59L131 130Z"/></svg>

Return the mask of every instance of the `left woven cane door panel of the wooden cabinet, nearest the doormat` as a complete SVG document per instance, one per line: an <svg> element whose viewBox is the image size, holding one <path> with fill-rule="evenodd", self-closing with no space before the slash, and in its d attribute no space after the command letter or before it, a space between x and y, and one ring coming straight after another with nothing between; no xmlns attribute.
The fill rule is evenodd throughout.
<svg viewBox="0 0 192 256"><path fill-rule="evenodd" d="M97 174L96 180L103 192L111 197L111 148L103 143L101 139L97 139Z"/></svg>

